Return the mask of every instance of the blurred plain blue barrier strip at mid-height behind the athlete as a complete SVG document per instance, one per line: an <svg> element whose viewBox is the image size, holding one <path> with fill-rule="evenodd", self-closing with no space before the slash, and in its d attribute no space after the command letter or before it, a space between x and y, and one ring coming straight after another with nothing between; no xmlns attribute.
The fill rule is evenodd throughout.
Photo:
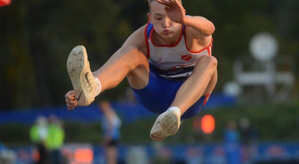
<svg viewBox="0 0 299 164"><path fill-rule="evenodd" d="M212 93L204 110L212 110L220 106L231 106L236 102L236 98L227 96L221 93ZM121 116L122 120L126 122L134 122L144 117L155 117L157 114L149 112L140 103L122 103L112 102L112 107ZM96 103L92 103L89 106L78 106L74 110L67 110L66 106L60 107L46 107L46 108L34 108L34 109L11 109L9 112L0 113L0 124L7 123L22 123L33 124L35 119L42 115L48 117L51 114L55 114L65 121L76 122L94 122L99 121L101 118L101 112L98 109Z"/></svg>

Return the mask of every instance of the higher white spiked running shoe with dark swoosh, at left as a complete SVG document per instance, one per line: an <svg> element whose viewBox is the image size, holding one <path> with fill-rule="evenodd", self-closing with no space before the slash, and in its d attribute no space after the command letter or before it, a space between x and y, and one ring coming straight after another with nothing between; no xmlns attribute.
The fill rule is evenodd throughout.
<svg viewBox="0 0 299 164"><path fill-rule="evenodd" d="M67 71L75 91L78 105L87 106L94 101L99 89L89 68L87 52L84 46L76 46L67 59Z"/></svg>

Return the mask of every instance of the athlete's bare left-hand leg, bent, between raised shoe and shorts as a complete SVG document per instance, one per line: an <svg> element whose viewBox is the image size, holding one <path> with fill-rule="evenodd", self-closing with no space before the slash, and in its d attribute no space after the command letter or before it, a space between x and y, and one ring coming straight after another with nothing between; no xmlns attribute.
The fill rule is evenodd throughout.
<svg viewBox="0 0 299 164"><path fill-rule="evenodd" d="M137 47L116 52L99 70L93 72L102 85L102 91L117 86L128 78L133 88L143 88L149 82L149 62Z"/></svg>

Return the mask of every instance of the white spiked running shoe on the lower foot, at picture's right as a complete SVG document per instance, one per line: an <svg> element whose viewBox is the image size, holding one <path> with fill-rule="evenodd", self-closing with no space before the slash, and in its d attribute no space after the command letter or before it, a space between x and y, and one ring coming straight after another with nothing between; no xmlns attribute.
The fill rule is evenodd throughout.
<svg viewBox="0 0 299 164"><path fill-rule="evenodd" d="M167 110L155 120L150 138L154 141L162 141L170 135L174 135L180 126L180 116L173 110Z"/></svg>

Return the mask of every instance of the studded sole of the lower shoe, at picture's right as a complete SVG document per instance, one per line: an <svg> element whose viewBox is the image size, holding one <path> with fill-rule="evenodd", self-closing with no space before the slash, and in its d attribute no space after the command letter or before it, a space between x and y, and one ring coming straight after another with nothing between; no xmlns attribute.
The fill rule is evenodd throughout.
<svg viewBox="0 0 299 164"><path fill-rule="evenodd" d="M152 133L150 134L150 138L154 141L162 141L166 137L174 135L177 133L180 122L178 121L176 115L174 113L169 112L161 119L161 131L160 134ZM167 131L168 130L168 131ZM163 136L163 137L161 137Z"/></svg>

